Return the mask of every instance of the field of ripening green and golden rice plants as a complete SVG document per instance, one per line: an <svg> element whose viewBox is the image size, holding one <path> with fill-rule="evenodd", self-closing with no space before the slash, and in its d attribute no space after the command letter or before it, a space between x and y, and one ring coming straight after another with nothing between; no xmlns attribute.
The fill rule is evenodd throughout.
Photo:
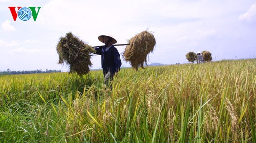
<svg viewBox="0 0 256 143"><path fill-rule="evenodd" d="M0 76L0 142L256 142L256 59Z"/></svg>

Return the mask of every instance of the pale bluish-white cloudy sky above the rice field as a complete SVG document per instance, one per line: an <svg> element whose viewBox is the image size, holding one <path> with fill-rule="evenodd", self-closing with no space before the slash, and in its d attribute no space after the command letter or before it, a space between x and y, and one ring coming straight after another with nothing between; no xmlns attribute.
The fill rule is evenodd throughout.
<svg viewBox="0 0 256 143"><path fill-rule="evenodd" d="M14 21L11 6L41 9L36 21ZM204 50L213 61L256 58L256 1L0 0L0 71L68 71L67 65L57 64L56 51L68 32L98 46L103 45L99 35L110 33L117 44L126 44L145 30L156 39L148 64L188 63L186 53ZM122 55L125 46L116 48ZM130 66L121 59L122 67ZM101 68L100 55L91 61L91 69Z"/></svg>

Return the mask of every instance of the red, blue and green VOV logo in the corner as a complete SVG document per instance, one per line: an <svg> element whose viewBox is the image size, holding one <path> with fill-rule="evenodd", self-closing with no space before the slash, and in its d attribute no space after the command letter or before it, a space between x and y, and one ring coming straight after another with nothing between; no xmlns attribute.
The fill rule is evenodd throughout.
<svg viewBox="0 0 256 143"><path fill-rule="evenodd" d="M18 7L18 11L15 10L16 7L8 7L11 11L13 20L16 21L17 17L20 20L28 21L31 16L33 17L34 21L36 21L38 13L41 7L37 7L38 11L36 12L36 7Z"/></svg>

